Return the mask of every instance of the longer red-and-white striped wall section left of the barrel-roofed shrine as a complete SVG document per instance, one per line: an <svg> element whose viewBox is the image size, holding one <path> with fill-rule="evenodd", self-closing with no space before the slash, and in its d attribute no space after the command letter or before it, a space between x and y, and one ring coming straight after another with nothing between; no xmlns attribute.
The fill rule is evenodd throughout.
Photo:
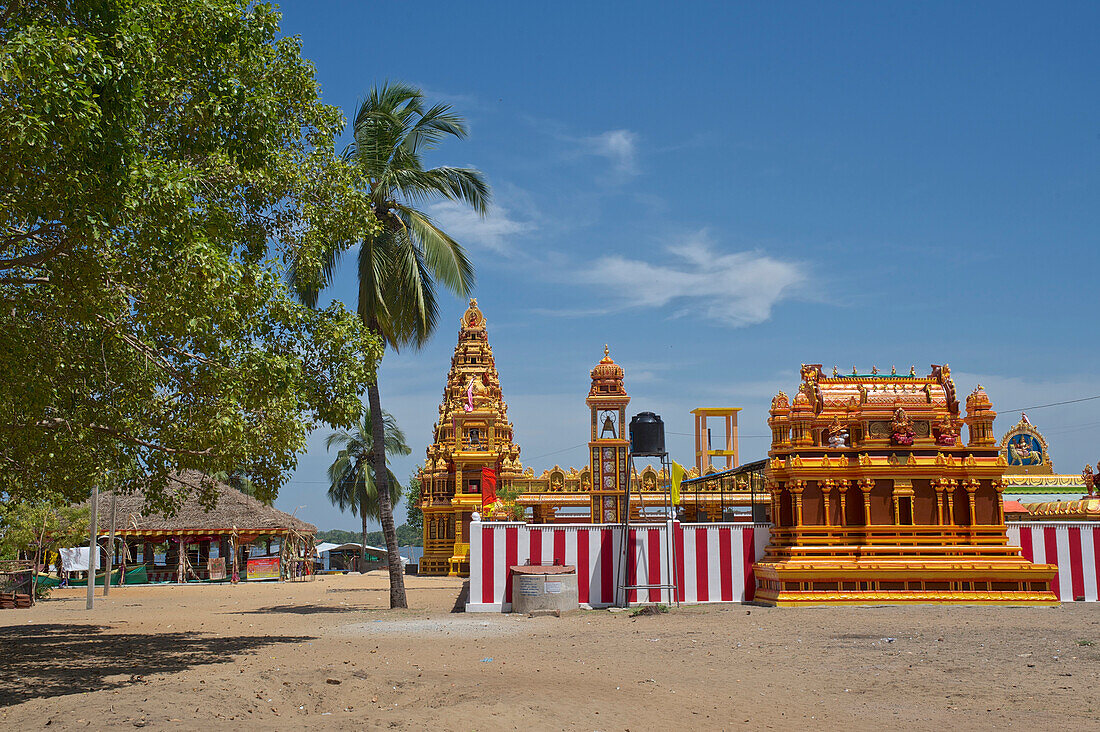
<svg viewBox="0 0 1100 732"><path fill-rule="evenodd" d="M768 545L768 524L674 524L675 584L680 602L744 602L756 590L752 565ZM625 584L669 584L668 524L636 524L627 536L631 560ZM470 525L468 612L508 612L517 565L576 567L581 602L615 603L623 567L622 524ZM631 603L672 602L667 589L630 590Z"/></svg>

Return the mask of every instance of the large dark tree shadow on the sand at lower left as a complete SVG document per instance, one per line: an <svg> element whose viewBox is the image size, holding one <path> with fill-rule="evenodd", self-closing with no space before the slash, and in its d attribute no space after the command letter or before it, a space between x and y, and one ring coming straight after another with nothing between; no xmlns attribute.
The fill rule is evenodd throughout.
<svg viewBox="0 0 1100 732"><path fill-rule="evenodd" d="M0 627L0 707L29 699L117 689L143 676L232 663L234 656L310 636L110 633L80 624ZM118 678L124 677L124 678Z"/></svg>

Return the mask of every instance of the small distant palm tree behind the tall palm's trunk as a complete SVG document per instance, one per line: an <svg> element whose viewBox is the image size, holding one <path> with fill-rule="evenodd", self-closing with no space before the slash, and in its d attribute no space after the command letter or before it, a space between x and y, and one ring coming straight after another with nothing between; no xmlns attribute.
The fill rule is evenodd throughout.
<svg viewBox="0 0 1100 732"><path fill-rule="evenodd" d="M383 425L386 454L408 455L413 451L405 444L405 434L392 414L383 412L380 422ZM367 469L374 446L373 426L371 412L364 412L354 429L340 429L324 440L324 449L331 450L333 445L340 448L337 459L329 466L329 501L341 511L351 511L351 515L363 520L360 568L366 562L366 520L382 518L377 481L374 480L373 470ZM387 473L389 505L393 506L402 496L402 485L393 471L387 470Z"/></svg>

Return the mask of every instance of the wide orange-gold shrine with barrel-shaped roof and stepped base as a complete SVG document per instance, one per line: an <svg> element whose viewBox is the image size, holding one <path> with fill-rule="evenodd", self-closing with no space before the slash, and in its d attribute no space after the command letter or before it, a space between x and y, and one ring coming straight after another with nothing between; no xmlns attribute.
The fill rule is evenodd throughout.
<svg viewBox="0 0 1100 732"><path fill-rule="evenodd" d="M947 365L826 376L802 367L771 403L773 527L755 565L776 605L1054 604L1053 565L1008 546L1007 461L979 386L966 417ZM960 427L969 439L963 445Z"/></svg>

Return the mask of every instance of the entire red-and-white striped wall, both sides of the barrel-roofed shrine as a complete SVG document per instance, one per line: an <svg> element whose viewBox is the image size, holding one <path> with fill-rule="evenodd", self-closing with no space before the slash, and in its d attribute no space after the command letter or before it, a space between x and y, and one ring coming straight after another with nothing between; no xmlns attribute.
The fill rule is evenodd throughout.
<svg viewBox="0 0 1100 732"><path fill-rule="evenodd" d="M763 557L769 524L674 524L675 584L680 602L748 602L756 590L752 565ZM632 525L632 561L626 584L668 584L667 524ZM622 567L619 524L470 525L468 612L508 612L516 565L572 565L581 602L594 608L615 602ZM1009 524L1009 544L1024 558L1055 564L1053 589L1063 602L1097 602L1100 588L1100 525L1068 522ZM630 602L670 602L669 590L631 590Z"/></svg>

